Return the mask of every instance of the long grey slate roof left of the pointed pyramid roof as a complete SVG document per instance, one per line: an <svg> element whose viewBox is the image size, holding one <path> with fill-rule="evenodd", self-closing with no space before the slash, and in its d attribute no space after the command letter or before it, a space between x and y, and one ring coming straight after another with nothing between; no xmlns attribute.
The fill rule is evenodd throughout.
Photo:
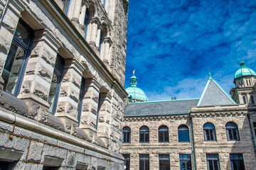
<svg viewBox="0 0 256 170"><path fill-rule="evenodd" d="M124 109L124 117L187 114L198 101L199 99L185 99L128 103Z"/></svg>

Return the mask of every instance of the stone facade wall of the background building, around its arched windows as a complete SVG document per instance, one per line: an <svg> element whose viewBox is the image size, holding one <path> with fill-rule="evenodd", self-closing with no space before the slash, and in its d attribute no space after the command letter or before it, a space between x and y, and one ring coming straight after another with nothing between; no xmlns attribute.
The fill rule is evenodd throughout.
<svg viewBox="0 0 256 170"><path fill-rule="evenodd" d="M252 119L256 120L254 117ZM240 141L227 140L225 124L228 122L238 125ZM205 123L215 125L217 141L204 140L203 125ZM149 128L149 143L139 143L139 128L143 125ZM169 128L167 143L158 142L158 128L161 125ZM188 126L190 142L178 142L179 125ZM159 154L169 154L171 169L177 170L180 169L179 154L191 154L191 162L193 162L193 154L196 169L207 169L206 154L218 154L220 169L231 169L230 153L242 154L245 169L254 169L256 166L255 149L245 105L195 107L188 115L125 117L124 127L131 129L131 142L122 144L122 153L130 154L132 170L139 169L139 154L149 154L150 169L159 169Z"/></svg>

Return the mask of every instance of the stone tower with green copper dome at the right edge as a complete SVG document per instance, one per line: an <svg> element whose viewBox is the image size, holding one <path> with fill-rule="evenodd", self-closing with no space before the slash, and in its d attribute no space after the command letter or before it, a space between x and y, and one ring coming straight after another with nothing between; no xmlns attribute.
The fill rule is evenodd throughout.
<svg viewBox="0 0 256 170"><path fill-rule="evenodd" d="M241 60L240 69L235 72L233 83L235 88L230 89L230 95L236 103L255 104L256 73L247 67Z"/></svg>

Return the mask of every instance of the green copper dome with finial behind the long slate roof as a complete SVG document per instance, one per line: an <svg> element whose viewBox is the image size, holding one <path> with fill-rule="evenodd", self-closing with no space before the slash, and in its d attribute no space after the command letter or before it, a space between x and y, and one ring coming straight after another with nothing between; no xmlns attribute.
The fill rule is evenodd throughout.
<svg viewBox="0 0 256 170"><path fill-rule="evenodd" d="M129 94L128 98L134 101L148 101L146 94L142 89L137 87L137 78L133 76L130 78L130 86L126 89L127 94Z"/></svg>

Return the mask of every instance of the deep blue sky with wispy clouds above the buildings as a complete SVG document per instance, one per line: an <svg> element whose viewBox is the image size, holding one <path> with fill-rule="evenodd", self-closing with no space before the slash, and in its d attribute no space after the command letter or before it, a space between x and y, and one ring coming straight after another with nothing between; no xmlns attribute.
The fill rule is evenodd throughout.
<svg viewBox="0 0 256 170"><path fill-rule="evenodd" d="M129 0L125 89L135 69L149 101L200 98L213 79L229 94L256 70L256 0Z"/></svg>

